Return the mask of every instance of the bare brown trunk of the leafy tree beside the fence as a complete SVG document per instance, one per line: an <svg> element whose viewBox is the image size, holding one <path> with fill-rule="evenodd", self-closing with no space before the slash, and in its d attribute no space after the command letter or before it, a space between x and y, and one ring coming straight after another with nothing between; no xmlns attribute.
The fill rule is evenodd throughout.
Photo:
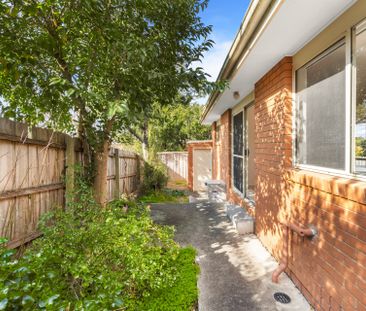
<svg viewBox="0 0 366 311"><path fill-rule="evenodd" d="M110 141L103 142L102 149L95 154L94 196L97 203L105 207L108 203L108 155Z"/></svg>

